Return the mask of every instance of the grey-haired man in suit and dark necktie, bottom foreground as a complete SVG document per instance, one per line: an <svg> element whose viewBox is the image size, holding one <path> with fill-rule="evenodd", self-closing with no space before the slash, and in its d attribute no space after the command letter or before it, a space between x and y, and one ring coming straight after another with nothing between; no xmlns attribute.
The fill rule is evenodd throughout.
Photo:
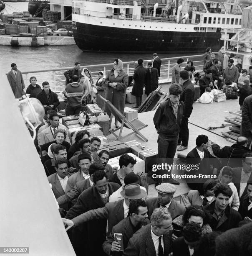
<svg viewBox="0 0 252 256"><path fill-rule="evenodd" d="M169 255L172 230L171 215L167 208L156 208L151 215L151 223L131 237L123 255Z"/></svg>

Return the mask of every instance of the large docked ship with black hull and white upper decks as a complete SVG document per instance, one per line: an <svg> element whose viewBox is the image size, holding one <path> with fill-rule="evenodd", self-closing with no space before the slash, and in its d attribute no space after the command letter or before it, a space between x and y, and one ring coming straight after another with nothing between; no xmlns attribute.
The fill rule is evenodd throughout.
<svg viewBox="0 0 252 256"><path fill-rule="evenodd" d="M229 28L241 28L240 5L160 1L73 0L77 46L83 51L204 52L221 48L225 29L230 38L234 31Z"/></svg>

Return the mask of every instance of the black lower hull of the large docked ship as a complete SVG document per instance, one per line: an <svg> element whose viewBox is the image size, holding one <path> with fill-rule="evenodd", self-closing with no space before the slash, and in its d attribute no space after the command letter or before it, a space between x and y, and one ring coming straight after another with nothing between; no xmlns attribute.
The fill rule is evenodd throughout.
<svg viewBox="0 0 252 256"><path fill-rule="evenodd" d="M189 53L204 52L207 47L216 51L223 45L220 29L205 33L146 31L76 22L73 36L82 51Z"/></svg>

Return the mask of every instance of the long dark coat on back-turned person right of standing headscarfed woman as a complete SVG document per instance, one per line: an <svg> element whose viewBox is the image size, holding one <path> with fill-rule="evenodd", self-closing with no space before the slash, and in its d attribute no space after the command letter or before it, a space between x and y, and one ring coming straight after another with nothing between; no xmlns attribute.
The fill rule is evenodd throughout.
<svg viewBox="0 0 252 256"><path fill-rule="evenodd" d="M133 96L141 97L143 95L146 73L147 73L147 69L142 65L136 67L133 75L134 84L131 92Z"/></svg>

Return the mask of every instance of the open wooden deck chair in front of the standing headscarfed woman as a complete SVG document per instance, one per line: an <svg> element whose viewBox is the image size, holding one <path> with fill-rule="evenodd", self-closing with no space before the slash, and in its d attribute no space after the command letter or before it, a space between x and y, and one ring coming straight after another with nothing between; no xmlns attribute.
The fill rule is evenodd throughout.
<svg viewBox="0 0 252 256"><path fill-rule="evenodd" d="M135 118L131 121L129 121L118 109L116 109L112 103L106 99L104 99L101 95L97 95L97 97L100 97L100 99L105 103L106 108L108 108L108 110L111 112L111 116L110 116L110 122L109 122L109 127L108 127L108 133L112 133L116 139L116 140L121 140L125 137L128 137L134 133L138 134L144 141L148 141L147 138L144 137L144 135L142 133L140 133L139 131L145 127L147 127L148 125L142 123L140 120L138 120L138 118ZM118 127L116 129L111 129L111 123L112 123L112 118L113 116L116 118L116 120L118 120L121 123L121 127ZM128 133L126 136L122 137L122 131L123 131L123 127L129 128L131 130L133 130L131 133ZM115 131L119 131L119 135L117 135L115 133ZM106 133L106 135L108 134Z"/></svg>

